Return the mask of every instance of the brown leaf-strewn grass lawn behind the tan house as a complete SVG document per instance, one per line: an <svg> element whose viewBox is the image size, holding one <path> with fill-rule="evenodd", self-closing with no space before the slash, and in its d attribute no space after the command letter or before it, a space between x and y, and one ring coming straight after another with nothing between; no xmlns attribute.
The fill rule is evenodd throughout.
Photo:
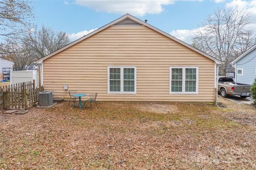
<svg viewBox="0 0 256 170"><path fill-rule="evenodd" d="M0 113L0 169L256 169L255 108L221 100Z"/></svg>

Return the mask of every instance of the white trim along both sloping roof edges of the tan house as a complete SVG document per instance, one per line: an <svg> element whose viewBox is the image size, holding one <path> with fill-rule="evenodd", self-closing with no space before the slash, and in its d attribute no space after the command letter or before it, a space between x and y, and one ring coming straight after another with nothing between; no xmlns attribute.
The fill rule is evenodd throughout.
<svg viewBox="0 0 256 170"><path fill-rule="evenodd" d="M108 28L109 26L114 25L114 24L116 24L117 22L122 21L122 20L124 20L124 19L126 19L126 18L130 18L130 19L132 19L132 20L134 20L134 21L136 21L136 22L138 22L138 23L140 23L140 24L142 24L142 25L145 25L145 26L147 26L147 27L149 27L149 28L151 28L151 29L153 29L153 30L159 32L159 33L162 33L162 34L165 35L166 37L169 37L169 38L173 39L174 41L177 41L178 43L180 43L180 44L182 44L182 45L184 45L184 46L186 46L186 47L188 47L188 48L194 50L195 52L197 52L197 53L199 53L199 54L202 54L203 56L205 56L205 57L207 57L207 58L210 58L211 60L213 60L213 61L214 61L215 63L217 63L217 64L222 64L222 62L219 61L217 58L214 58L214 57L212 57L212 56L210 56L210 55L207 55L206 53L202 52L201 50L196 49L195 47L188 45L187 43L185 43L185 42L183 42L183 41L181 41L181 40L179 40L179 39L177 39L177 38L175 38L175 37L169 35L168 33L164 32L164 31L162 31L162 30L159 30L159 29L153 27L152 25L150 25L150 24L148 24L148 23L146 23L146 22L143 22L143 21L141 21L141 20L135 18L134 16L132 16L132 15L130 15L130 14L125 14L125 15L121 16L121 18L118 18L118 19L114 20L113 22L110 22L110 23L106 24L105 26L103 26L103 27L101 27L101 28L99 28L99 29L97 29L97 30L95 30L95 31L93 31L93 32L91 32L91 33L89 33L89 34L87 34L86 36L77 39L77 40L74 41L73 43L70 43L69 45L60 48L59 50L57 50L57 51L55 51L55 52L53 52L53 53L51 53L51 54L45 56L44 58L41 58L41 59L38 60L36 63L42 63L42 62L43 62L44 60L46 60L47 58L49 58L49 57L51 57L51 56L53 56L53 55L55 55L55 54L61 52L62 50L65 50L65 49L67 49L67 48L69 48L69 47L71 47L71 46L73 46L73 45L79 43L80 41L82 41L82 40L84 40L84 39L86 39L86 38L88 38L88 37L91 37L91 36L94 35L95 33L98 33L98 32L100 32L101 30L106 29L106 28Z"/></svg>

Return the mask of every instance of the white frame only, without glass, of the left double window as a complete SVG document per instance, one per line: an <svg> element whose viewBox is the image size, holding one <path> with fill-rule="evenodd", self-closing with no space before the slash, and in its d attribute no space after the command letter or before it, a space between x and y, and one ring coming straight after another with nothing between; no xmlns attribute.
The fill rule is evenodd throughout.
<svg viewBox="0 0 256 170"><path fill-rule="evenodd" d="M120 91L110 91L109 73L110 69L120 69ZM134 69L134 92L124 91L124 69ZM137 94L137 66L108 66L108 94Z"/></svg>

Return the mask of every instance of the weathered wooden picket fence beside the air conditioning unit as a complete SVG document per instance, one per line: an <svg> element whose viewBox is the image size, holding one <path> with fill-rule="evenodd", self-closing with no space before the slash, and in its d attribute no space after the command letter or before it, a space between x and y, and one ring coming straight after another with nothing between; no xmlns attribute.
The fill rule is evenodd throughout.
<svg viewBox="0 0 256 170"><path fill-rule="evenodd" d="M36 106L41 91L43 87L35 87L35 80L0 87L0 109L27 109Z"/></svg>

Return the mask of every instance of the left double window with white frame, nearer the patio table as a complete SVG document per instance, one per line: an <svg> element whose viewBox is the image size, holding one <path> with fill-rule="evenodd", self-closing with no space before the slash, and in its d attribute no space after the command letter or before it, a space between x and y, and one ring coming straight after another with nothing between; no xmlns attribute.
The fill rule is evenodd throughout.
<svg viewBox="0 0 256 170"><path fill-rule="evenodd" d="M136 67L108 66L108 93L136 94Z"/></svg>

